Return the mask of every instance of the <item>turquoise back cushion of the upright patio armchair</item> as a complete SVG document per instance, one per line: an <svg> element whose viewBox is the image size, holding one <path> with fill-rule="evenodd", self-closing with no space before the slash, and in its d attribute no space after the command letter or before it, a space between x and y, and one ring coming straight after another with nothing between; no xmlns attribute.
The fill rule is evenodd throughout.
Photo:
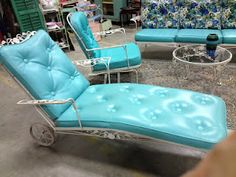
<svg viewBox="0 0 236 177"><path fill-rule="evenodd" d="M87 17L84 15L83 12L73 12L71 13L70 16L70 23L73 26L74 30L76 31L77 35L79 35L79 37L83 41L83 44L85 45L84 46L80 41L80 39L77 37L81 49L83 50L86 57L90 58L90 56L86 51L86 48L87 49L99 48L99 45L93 36ZM93 51L91 52L91 54L92 54L91 57L93 58L100 57L99 50Z"/></svg>

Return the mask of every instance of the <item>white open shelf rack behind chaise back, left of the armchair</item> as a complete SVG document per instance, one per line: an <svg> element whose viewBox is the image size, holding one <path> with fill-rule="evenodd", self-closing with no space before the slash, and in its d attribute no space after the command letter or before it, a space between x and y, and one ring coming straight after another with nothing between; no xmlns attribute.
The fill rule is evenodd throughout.
<svg viewBox="0 0 236 177"><path fill-rule="evenodd" d="M69 37L61 8L43 9L41 7L41 11L44 16L45 26L47 27L50 36L62 49L70 50Z"/></svg>

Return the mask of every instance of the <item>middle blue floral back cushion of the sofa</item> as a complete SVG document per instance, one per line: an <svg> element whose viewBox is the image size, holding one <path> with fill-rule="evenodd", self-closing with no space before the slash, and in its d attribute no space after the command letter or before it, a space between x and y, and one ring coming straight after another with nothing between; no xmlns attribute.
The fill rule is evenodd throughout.
<svg viewBox="0 0 236 177"><path fill-rule="evenodd" d="M220 29L220 0L180 0L180 28Z"/></svg>

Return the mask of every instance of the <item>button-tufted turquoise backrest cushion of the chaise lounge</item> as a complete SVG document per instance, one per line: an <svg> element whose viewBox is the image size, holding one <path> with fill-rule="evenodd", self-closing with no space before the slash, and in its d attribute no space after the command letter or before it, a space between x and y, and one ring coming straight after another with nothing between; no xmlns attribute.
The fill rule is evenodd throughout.
<svg viewBox="0 0 236 177"><path fill-rule="evenodd" d="M43 30L23 43L0 48L0 60L35 99L76 100L89 86L87 79ZM68 103L43 108L56 119L69 106Z"/></svg>

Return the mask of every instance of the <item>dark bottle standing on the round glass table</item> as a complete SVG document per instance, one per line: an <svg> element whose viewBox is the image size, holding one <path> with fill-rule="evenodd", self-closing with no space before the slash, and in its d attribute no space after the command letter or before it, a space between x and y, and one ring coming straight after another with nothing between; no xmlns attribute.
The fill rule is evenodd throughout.
<svg viewBox="0 0 236 177"><path fill-rule="evenodd" d="M216 57L216 48L218 44L219 37L217 34L209 34L206 39L206 51L207 55L212 59Z"/></svg>

